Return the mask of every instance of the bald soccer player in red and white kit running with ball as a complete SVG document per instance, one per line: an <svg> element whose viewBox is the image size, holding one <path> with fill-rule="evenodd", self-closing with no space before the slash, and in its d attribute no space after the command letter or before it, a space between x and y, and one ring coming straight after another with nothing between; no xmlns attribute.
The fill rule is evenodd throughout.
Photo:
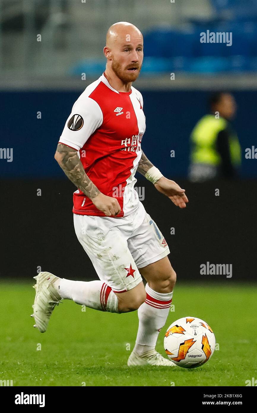
<svg viewBox="0 0 257 413"><path fill-rule="evenodd" d="M141 151L143 98L132 86L143 61L141 32L127 22L113 24L104 55L106 70L74 103L55 154L78 188L73 194L75 233L100 280L36 275L34 327L45 332L61 299L111 313L138 310L128 366L172 367L155 346L169 313L176 273L165 238L139 201L134 175L140 172L179 208L186 207L188 199Z"/></svg>

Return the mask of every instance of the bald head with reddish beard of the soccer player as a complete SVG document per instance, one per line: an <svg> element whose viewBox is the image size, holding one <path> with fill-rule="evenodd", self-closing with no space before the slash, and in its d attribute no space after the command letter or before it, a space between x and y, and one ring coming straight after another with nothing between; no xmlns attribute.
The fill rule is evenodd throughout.
<svg viewBox="0 0 257 413"><path fill-rule="evenodd" d="M114 23L107 31L104 55L106 69L124 83L134 82L143 61L143 36L134 24L127 21Z"/></svg>

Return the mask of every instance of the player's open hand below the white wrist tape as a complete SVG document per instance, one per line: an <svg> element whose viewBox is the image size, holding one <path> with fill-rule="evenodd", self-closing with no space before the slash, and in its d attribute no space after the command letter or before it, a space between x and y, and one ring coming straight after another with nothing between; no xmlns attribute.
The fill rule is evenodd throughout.
<svg viewBox="0 0 257 413"><path fill-rule="evenodd" d="M188 199L185 190L180 188L176 182L162 176L154 186L159 192L169 197L177 207L186 208Z"/></svg>

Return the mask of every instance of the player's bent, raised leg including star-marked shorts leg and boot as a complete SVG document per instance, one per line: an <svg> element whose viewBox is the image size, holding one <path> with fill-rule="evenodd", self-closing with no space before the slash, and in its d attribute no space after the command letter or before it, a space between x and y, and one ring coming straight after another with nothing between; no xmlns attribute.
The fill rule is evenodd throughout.
<svg viewBox="0 0 257 413"><path fill-rule="evenodd" d="M38 274L33 316L40 332L46 331L54 306L61 299L99 311L123 313L138 309L146 297L141 275L120 229L131 230L126 219L74 215L74 226L100 280L73 281L51 273Z"/></svg>

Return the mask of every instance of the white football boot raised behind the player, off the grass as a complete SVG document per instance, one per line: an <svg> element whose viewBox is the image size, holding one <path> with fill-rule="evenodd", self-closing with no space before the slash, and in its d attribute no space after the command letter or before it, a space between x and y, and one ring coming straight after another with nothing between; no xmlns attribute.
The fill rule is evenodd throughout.
<svg viewBox="0 0 257 413"><path fill-rule="evenodd" d="M47 324L54 307L61 302L61 296L52 285L59 277L51 273L41 272L33 278L37 280L37 283L33 285L33 288L36 290L36 295L32 306L33 314L31 314L31 317L35 319L33 327L38 328L38 330L43 333L47 329Z"/></svg>

